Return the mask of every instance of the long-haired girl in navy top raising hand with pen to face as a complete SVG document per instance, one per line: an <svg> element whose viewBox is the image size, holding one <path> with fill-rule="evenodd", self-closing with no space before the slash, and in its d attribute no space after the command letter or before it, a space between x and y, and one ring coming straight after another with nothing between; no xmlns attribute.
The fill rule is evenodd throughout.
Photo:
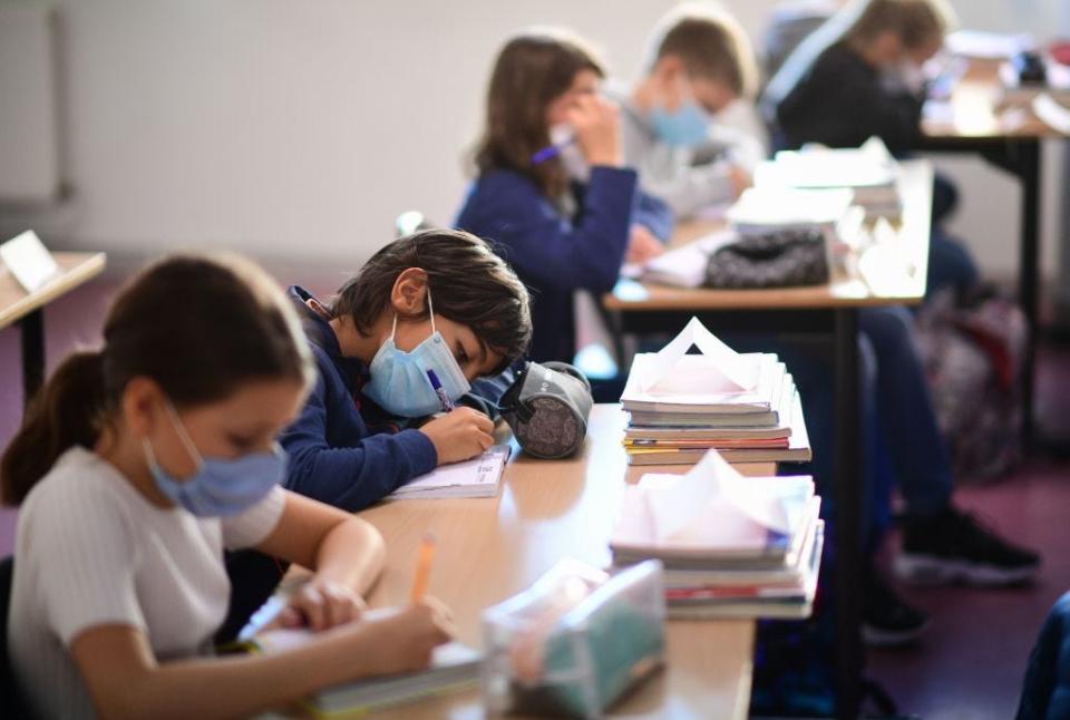
<svg viewBox="0 0 1070 720"><path fill-rule="evenodd" d="M573 294L612 290L626 260L662 251L672 221L624 167L605 72L560 31L523 32L498 53L478 177L455 225L486 237L533 294L535 361L575 354Z"/></svg>

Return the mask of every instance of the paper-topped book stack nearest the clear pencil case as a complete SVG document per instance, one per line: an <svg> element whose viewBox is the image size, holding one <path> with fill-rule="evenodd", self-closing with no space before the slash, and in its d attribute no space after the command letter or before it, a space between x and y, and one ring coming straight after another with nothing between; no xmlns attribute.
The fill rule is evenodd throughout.
<svg viewBox="0 0 1070 720"><path fill-rule="evenodd" d="M669 617L806 617L824 546L808 476L742 477L710 450L624 490L613 564L664 565Z"/></svg>

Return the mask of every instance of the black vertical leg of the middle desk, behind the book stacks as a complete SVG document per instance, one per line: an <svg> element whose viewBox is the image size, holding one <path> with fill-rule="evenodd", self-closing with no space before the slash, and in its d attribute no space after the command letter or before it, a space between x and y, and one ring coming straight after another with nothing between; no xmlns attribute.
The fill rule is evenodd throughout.
<svg viewBox="0 0 1070 720"><path fill-rule="evenodd" d="M837 718L856 718L862 669L862 438L858 402L858 311L836 311L836 704Z"/></svg>

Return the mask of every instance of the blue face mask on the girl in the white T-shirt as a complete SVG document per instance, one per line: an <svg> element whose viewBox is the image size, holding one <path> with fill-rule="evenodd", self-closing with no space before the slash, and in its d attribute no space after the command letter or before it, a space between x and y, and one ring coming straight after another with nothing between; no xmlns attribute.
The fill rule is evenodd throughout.
<svg viewBox="0 0 1070 720"><path fill-rule="evenodd" d="M172 503L198 517L230 517L264 499L282 481L286 473L286 454L278 445L271 453L251 453L233 460L205 458L193 444L169 400L167 412L182 444L197 466L192 476L178 479L156 461L148 438L142 439L148 470L156 487Z"/></svg>

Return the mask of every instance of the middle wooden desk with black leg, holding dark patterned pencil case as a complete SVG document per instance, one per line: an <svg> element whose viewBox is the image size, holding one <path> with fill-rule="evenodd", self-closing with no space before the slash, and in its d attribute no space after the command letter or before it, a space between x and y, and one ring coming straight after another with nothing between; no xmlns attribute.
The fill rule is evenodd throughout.
<svg viewBox="0 0 1070 720"><path fill-rule="evenodd" d="M839 273L818 288L785 290L680 290L648 283L617 283L604 305L616 311L620 331L678 332L698 315L714 332L809 332L831 339L835 358L834 503L837 514L837 698L839 717L858 707L864 650L862 626L862 556L859 537L862 435L858 410L858 310L914 304L925 295L932 213L933 169L926 160L902 164L899 191L903 220L896 242L913 267L898 281L878 285L858 275ZM713 230L711 224L683 225L674 242L687 242Z"/></svg>

